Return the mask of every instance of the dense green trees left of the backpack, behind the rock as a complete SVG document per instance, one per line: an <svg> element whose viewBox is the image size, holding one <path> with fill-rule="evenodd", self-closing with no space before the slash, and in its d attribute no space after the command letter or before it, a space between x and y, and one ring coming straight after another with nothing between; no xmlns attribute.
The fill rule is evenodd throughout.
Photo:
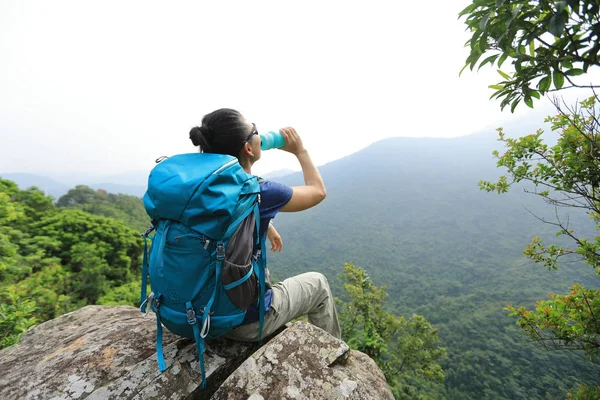
<svg viewBox="0 0 600 400"><path fill-rule="evenodd" d="M106 201L95 210L105 214L129 213L131 220L135 212L129 206L143 209L141 199L131 196L93 192L91 197L97 196ZM1 306L3 346L37 321L102 298L139 301L121 288L138 279L143 246L137 230L77 208L57 208L40 190L19 190L0 179L0 293L9 294Z"/></svg>

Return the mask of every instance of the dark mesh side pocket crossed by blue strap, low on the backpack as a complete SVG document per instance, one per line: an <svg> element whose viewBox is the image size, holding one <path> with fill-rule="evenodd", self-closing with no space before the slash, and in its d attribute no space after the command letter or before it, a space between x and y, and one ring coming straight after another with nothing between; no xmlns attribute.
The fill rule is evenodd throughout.
<svg viewBox="0 0 600 400"><path fill-rule="evenodd" d="M250 276L248 277L248 275ZM236 283L242 280L243 282L236 285ZM221 282L223 286L234 286L229 290L226 289L225 293L227 293L229 300L242 310L247 310L248 306L258 298L258 280L253 272L252 263L237 265L225 261L223 263Z"/></svg>

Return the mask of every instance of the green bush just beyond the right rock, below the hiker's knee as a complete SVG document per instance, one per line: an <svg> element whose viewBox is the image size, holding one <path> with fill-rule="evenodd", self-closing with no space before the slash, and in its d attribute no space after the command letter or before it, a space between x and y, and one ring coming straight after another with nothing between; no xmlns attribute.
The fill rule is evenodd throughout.
<svg viewBox="0 0 600 400"><path fill-rule="evenodd" d="M350 299L341 303L342 338L375 360L395 397L415 398L415 381L443 382L438 362L446 349L437 330L422 316L407 320L385 311L385 287L376 287L364 269L345 264L342 279Z"/></svg>

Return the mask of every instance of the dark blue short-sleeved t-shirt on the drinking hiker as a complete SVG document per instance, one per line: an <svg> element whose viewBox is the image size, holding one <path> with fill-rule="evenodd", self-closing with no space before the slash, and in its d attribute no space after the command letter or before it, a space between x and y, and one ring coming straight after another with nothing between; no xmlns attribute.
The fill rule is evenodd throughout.
<svg viewBox="0 0 600 400"><path fill-rule="evenodd" d="M260 235L267 234L269 221L275 218L275 215L285 206L292 198L292 188L281 183L271 181L260 181ZM267 249L263 249L267 251ZM267 289L265 292L265 313L271 309L271 301L273 300L273 291ZM246 317L242 325L251 324L258 321L258 306L251 305L246 311Z"/></svg>

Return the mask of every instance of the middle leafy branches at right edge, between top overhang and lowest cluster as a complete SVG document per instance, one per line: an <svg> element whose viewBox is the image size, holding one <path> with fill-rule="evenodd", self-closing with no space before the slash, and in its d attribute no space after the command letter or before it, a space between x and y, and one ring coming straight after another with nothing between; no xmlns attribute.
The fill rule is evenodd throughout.
<svg viewBox="0 0 600 400"><path fill-rule="evenodd" d="M498 167L506 168L506 176L497 182L481 181L482 190L506 193L512 184L530 182L536 188L535 195L556 207L579 208L587 211L596 226L600 222L600 136L597 131L598 109L595 98L581 102L581 107L571 113L548 117L553 130L560 131L558 142L548 146L542 141L542 131L518 139L507 138L502 131L500 141L507 150L498 158ZM525 254L535 262L542 262L548 269L557 269L560 258L579 255L594 269L600 267L600 237L593 240L576 236L568 220L552 223L558 228L557 236L566 235L575 241L577 249L555 245L545 246L535 237ZM600 270L597 270L600 273Z"/></svg>

